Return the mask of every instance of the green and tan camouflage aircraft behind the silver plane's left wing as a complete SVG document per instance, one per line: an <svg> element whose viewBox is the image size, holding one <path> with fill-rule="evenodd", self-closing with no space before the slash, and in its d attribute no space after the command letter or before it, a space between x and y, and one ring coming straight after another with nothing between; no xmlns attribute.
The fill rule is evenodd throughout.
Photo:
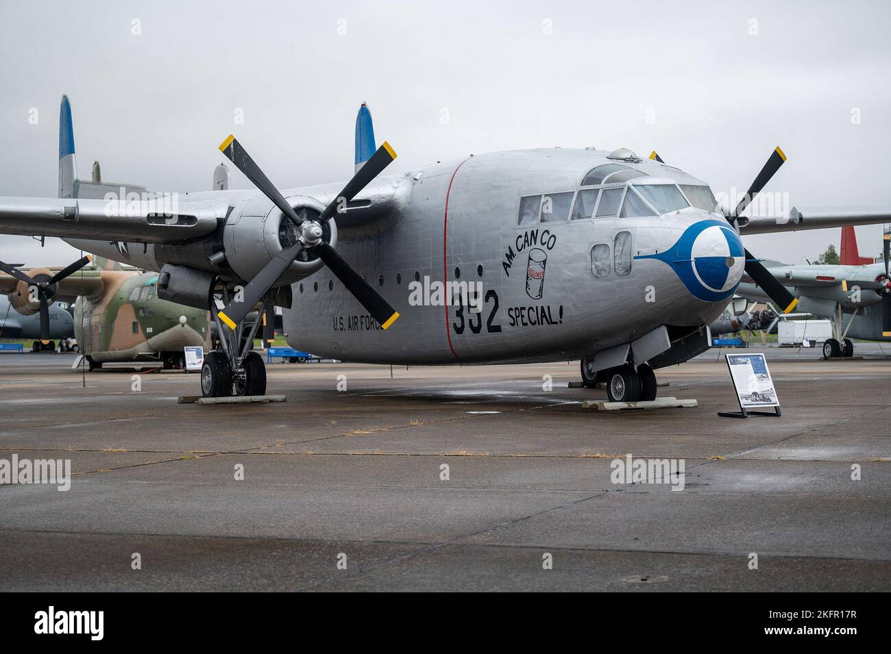
<svg viewBox="0 0 891 654"><path fill-rule="evenodd" d="M0 275L0 293L26 316L42 313L41 304L45 305L49 331L38 336L44 341L60 337L54 331L50 305L76 299L73 320L68 311L62 313L68 316L65 324L73 327L91 371L114 361L159 361L165 367L183 367L186 345L208 348L208 312L159 299L157 272L124 270L119 263L104 259L96 259L95 264L48 285L43 298L34 293L33 281L52 278L53 271L48 269L28 270L29 279Z"/></svg>

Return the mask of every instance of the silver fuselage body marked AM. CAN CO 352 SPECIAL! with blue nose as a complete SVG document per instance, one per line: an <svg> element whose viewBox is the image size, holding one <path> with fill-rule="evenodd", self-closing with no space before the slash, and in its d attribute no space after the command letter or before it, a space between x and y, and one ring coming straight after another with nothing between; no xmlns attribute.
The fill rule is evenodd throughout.
<svg viewBox="0 0 891 654"><path fill-rule="evenodd" d="M642 176L582 187L589 171L610 164ZM630 343L663 325L710 323L732 297L745 263L738 234L714 208L591 217L592 206L570 219L583 190L587 198L600 188L605 202L605 190L619 189L610 195L619 197L618 208L637 185L707 190L676 168L617 161L593 149L499 152L380 178L357 199L373 205L387 195L398 200L395 208L372 222L351 223L349 211L345 220L338 215L337 248L400 318L384 331L330 270L300 279L292 264L282 278L295 281L292 308L283 314L288 342L318 356L369 363L555 361ZM339 189L330 184L283 195L327 203ZM536 195L544 198L532 219L521 198ZM255 190L188 198L228 202L227 228L264 221L266 233L275 234L282 220ZM551 212L544 212L547 198ZM118 244L67 240L121 259ZM274 239L263 246L274 256ZM127 262L160 270L164 259L154 245L127 244ZM257 270L264 263L258 260ZM460 286L437 296L437 285L456 282L471 283L470 302L480 311L471 311Z"/></svg>

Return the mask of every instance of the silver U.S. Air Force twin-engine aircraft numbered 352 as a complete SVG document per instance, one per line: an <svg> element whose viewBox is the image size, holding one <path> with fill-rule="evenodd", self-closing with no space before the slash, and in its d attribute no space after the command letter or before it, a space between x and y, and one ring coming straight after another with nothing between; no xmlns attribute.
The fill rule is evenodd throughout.
<svg viewBox="0 0 891 654"><path fill-rule="evenodd" d="M61 120L70 125L68 100ZM64 133L69 133L65 132ZM158 295L209 308L219 351L201 392L266 391L251 352L258 319L282 306L291 345L382 364L582 359L610 400L656 395L653 369L708 347L703 327L745 270L774 303L796 300L740 234L891 220L878 212L748 219L751 199L786 157L775 149L746 196L724 210L706 182L629 149L525 149L380 176L370 116L346 184L279 190L230 135L220 150L257 190L127 203L0 198L0 232L55 236L159 272ZM369 148L369 136L371 147ZM60 143L60 175L73 141ZM358 151L358 149L357 149ZM257 310L257 311L255 311Z"/></svg>

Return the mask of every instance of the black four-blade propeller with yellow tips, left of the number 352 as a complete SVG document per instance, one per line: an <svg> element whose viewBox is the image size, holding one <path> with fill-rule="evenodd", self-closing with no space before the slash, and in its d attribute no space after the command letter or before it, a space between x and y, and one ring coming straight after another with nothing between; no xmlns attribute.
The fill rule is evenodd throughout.
<svg viewBox="0 0 891 654"><path fill-rule="evenodd" d="M380 323L380 327L386 329L396 321L399 313L322 238L323 225L331 220L338 211L345 209L347 203L396 158L396 152L390 148L389 143L385 141L380 146L365 162L365 165L356 172L353 179L347 182L337 198L334 198L324 208L322 214L315 219L301 217L294 211L293 207L288 204L288 201L282 197L279 190L249 156L248 151L232 134L223 141L220 150L251 182L254 182L254 185L263 192L266 198L272 200L274 205L281 209L282 213L297 228L298 235L297 241L293 245L284 247L271 262L266 264L263 270L257 273L254 279L249 280L240 296L236 296L236 299L233 299L223 311L217 311L219 318L228 327L234 329L238 326L249 311L254 308L254 305L260 302L270 288L274 287L291 262L304 250L318 255L319 259L328 266L344 287Z"/></svg>

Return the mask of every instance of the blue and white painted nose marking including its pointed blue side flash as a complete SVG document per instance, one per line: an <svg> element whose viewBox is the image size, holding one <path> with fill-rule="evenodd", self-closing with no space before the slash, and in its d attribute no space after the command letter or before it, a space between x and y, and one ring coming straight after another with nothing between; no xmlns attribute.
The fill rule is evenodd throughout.
<svg viewBox="0 0 891 654"><path fill-rule="evenodd" d="M733 295L746 265L740 237L729 225L718 221L697 222L684 230L665 252L634 258L666 263L691 295L704 302L717 302Z"/></svg>

